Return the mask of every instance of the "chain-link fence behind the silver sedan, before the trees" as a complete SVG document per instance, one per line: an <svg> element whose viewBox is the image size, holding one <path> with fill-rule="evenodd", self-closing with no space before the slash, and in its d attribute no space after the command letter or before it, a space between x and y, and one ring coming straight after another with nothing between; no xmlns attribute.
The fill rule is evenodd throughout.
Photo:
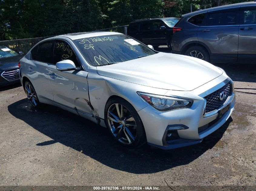
<svg viewBox="0 0 256 191"><path fill-rule="evenodd" d="M112 27L112 28L95 30L95 31L110 31L110 32L119 32L119 33L127 34L127 27L128 25L124 25L120 27ZM54 36L49 36L49 37L54 37ZM7 46L15 50L16 52L22 51L24 54L26 54L36 43L46 38L48 37L18 39L18 40L4 40L4 41L0 41L0 46Z"/></svg>

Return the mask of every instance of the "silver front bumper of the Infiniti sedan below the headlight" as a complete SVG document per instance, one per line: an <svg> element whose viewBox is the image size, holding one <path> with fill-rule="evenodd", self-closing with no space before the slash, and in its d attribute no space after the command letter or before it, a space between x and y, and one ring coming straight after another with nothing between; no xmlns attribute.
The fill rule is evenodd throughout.
<svg viewBox="0 0 256 191"><path fill-rule="evenodd" d="M211 92L208 90L208 93ZM144 124L148 144L162 149L172 149L200 143L204 137L220 128L234 110L234 90L224 105L218 109L221 110L230 104L228 111L220 119L217 119L218 111L214 111L212 115L204 115L205 100L203 97L198 95L193 97L193 100L191 108L160 112L147 106L140 110L138 114ZM178 139L168 141L166 131L167 126L170 125L187 126L188 129L177 130Z"/></svg>

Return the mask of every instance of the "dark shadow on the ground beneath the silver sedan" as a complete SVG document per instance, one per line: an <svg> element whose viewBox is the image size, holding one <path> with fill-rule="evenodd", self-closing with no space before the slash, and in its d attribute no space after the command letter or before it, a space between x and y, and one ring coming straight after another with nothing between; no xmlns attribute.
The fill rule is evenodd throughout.
<svg viewBox="0 0 256 191"><path fill-rule="evenodd" d="M43 104L38 110L32 108L27 99L8 106L8 111L37 131L50 137L51 141L38 142L44 145L59 142L111 168L135 174L155 173L176 166L189 164L221 139L232 118L203 142L189 147L161 150L145 145L135 150L125 149L112 140L108 129L71 114L57 107Z"/></svg>

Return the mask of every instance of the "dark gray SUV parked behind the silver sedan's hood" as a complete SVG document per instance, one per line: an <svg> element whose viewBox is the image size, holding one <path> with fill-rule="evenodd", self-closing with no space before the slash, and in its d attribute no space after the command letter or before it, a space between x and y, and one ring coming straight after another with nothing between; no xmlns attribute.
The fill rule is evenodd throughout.
<svg viewBox="0 0 256 191"><path fill-rule="evenodd" d="M182 15L173 27L172 53L212 63L256 61L256 2Z"/></svg>

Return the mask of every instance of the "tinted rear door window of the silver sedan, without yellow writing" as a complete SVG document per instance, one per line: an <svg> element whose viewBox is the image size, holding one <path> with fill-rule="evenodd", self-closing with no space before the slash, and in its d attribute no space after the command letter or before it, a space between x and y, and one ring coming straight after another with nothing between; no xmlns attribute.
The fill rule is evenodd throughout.
<svg viewBox="0 0 256 191"><path fill-rule="evenodd" d="M35 60L52 64L54 40L48 40L38 44L38 51Z"/></svg>

